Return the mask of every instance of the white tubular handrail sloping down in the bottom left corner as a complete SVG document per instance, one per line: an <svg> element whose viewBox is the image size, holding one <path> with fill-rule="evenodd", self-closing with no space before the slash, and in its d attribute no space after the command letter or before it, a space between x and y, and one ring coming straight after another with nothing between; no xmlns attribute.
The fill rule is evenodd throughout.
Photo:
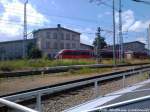
<svg viewBox="0 0 150 112"><path fill-rule="evenodd" d="M30 108L27 108L25 106L22 106L22 105L19 105L17 103L14 103L14 102L11 102L11 101L8 101L6 99L3 99L3 98L0 98L0 104L3 104L3 105L6 105L8 107L11 107L15 110L18 110L19 112L38 112L38 111L35 111L35 110L32 110Z"/></svg>

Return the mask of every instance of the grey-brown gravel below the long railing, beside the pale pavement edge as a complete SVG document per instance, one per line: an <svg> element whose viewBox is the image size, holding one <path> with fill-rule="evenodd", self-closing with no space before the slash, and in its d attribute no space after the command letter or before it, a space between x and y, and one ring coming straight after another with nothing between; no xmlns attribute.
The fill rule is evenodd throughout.
<svg viewBox="0 0 150 112"><path fill-rule="evenodd" d="M147 75L135 75L126 78L126 86L135 84L147 79ZM123 87L123 81L113 80L111 82L99 84L98 95L119 90ZM61 112L75 105L84 103L95 98L94 87L83 88L82 90L72 91L56 97L50 97L43 101L43 112Z"/></svg>

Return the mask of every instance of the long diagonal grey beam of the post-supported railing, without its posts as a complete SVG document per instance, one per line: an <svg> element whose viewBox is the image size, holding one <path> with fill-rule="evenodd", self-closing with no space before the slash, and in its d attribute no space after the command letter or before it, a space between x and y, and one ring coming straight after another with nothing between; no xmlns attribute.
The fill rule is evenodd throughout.
<svg viewBox="0 0 150 112"><path fill-rule="evenodd" d="M145 71L148 71L148 70L150 70L150 68L144 69L144 70L142 70L142 72L145 72ZM16 99L20 99L20 101L21 101L21 99L23 99L23 100L24 99L30 99L29 97L33 98L34 96L38 95L39 93L41 95L52 94L52 93L60 92L60 91L63 91L63 90L84 86L84 85L91 84L91 83L94 83L94 82L101 82L101 81L105 81L105 80L109 80L109 79L119 78L119 77L122 77L124 75L128 76L128 75L131 75L131 74L137 74L137 73L140 73L140 72L141 72L141 70L134 71L134 72L128 72L126 74L124 73L124 74L117 74L117 75L113 75L113 76L106 76L106 77L101 77L101 78L96 78L96 79L91 79L91 80L85 80L85 81L81 81L81 82L75 82L75 83L60 85L60 86L56 86L56 87L50 87L50 88L41 89L41 90L37 90L37 91L31 91L31 92L6 96L6 97L3 97L3 98L11 100L11 101L15 101Z"/></svg>

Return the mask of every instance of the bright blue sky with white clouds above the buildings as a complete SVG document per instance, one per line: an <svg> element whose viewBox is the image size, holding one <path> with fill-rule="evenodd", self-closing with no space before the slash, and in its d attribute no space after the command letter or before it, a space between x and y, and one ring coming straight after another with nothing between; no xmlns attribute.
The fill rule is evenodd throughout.
<svg viewBox="0 0 150 112"><path fill-rule="evenodd" d="M112 43L112 0L102 0L108 6L89 0L29 0L27 5L28 32L39 28L62 27L80 32L81 42L92 44L98 26ZM145 0L146 1L146 0ZM149 0L147 0L149 1ZM124 41L146 42L146 29L150 23L150 5L122 0ZM22 39L24 0L0 0L0 41ZM118 24L118 0L116 23ZM118 27L118 25L117 25Z"/></svg>

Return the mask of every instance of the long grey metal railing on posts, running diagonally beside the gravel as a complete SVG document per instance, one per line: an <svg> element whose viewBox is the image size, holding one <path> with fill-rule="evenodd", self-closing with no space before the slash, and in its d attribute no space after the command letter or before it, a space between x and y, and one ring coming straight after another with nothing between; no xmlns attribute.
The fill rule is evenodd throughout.
<svg viewBox="0 0 150 112"><path fill-rule="evenodd" d="M21 94L16 94L16 95L11 95L11 96L7 96L7 97L3 97L4 99L7 99L9 101L24 101L24 100L28 100L28 99L32 99L32 98L36 98L36 108L39 112L42 112L42 106L41 106L41 96L46 95L46 94L52 94L52 93L56 93L56 92L60 92L63 90L67 90L67 89L72 89L75 87L80 87L80 86L84 86L87 84L94 84L94 94L95 97L98 96L98 83L101 81L105 81L105 80L109 80L109 79L114 79L114 78L119 78L122 77L123 78L123 82L122 82L122 87L125 87L125 83L126 83L126 77L129 75L133 75L133 74L141 74L143 72L148 72L149 73L150 68L144 68L142 70L131 70L129 72L125 72L125 73L120 73L120 74L115 74L115 75L109 75L109 76L104 76L104 77L100 77L100 78L95 78L95 79L88 79L88 80L82 80L79 82L74 82L74 83L68 83L68 84L64 84L64 85L60 85L60 86L56 86L56 87L50 87L50 88L46 88L46 89L41 89L41 90L36 90L36 91L31 91L31 92L26 92L26 93L21 93Z"/></svg>

